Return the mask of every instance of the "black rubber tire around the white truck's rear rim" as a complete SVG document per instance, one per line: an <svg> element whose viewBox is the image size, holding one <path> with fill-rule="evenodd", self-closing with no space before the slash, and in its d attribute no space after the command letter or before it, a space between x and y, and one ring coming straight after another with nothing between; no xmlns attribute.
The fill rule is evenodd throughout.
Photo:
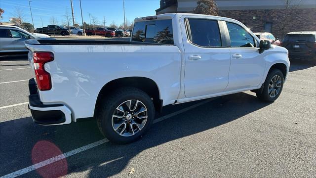
<svg viewBox="0 0 316 178"><path fill-rule="evenodd" d="M112 116L116 108L123 102L134 99L141 101L147 108L147 121L143 128L134 135L122 136L118 134L112 126ZM137 88L124 87L110 93L106 98L102 98L97 110L97 124L100 132L111 142L127 144L139 139L152 125L155 117L155 108L149 95ZM124 117L127 118L127 117ZM126 120L125 120L126 121ZM125 122L126 123L126 122Z"/></svg>

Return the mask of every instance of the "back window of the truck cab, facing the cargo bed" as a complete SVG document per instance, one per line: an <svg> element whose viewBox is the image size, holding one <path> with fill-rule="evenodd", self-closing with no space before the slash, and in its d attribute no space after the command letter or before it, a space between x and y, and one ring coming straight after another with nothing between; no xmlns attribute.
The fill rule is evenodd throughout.
<svg viewBox="0 0 316 178"><path fill-rule="evenodd" d="M136 22L132 41L173 45L172 20Z"/></svg>

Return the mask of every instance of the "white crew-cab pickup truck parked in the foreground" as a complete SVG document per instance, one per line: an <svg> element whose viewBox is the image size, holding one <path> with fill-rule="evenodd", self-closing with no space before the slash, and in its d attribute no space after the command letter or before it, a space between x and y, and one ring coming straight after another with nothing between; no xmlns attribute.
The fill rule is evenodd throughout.
<svg viewBox="0 0 316 178"><path fill-rule="evenodd" d="M116 143L139 138L155 109L245 90L280 95L288 51L237 20L168 13L136 18L130 41L29 40L29 108L35 123L95 118Z"/></svg>

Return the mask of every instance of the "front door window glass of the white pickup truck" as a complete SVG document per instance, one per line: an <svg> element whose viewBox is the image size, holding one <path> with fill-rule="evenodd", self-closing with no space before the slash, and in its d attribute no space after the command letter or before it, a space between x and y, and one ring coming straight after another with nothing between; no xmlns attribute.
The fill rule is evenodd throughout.
<svg viewBox="0 0 316 178"><path fill-rule="evenodd" d="M226 22L232 47L254 47L254 38L237 24Z"/></svg>

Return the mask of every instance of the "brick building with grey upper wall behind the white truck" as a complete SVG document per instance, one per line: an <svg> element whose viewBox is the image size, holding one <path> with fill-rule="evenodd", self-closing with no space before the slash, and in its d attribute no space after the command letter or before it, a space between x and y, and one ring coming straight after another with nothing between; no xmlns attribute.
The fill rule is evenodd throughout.
<svg viewBox="0 0 316 178"><path fill-rule="evenodd" d="M282 38L288 32L316 31L316 0L288 1L286 7L286 0L215 0L219 16L237 19L252 32ZM197 0L160 0L156 13L192 13L196 6Z"/></svg>

